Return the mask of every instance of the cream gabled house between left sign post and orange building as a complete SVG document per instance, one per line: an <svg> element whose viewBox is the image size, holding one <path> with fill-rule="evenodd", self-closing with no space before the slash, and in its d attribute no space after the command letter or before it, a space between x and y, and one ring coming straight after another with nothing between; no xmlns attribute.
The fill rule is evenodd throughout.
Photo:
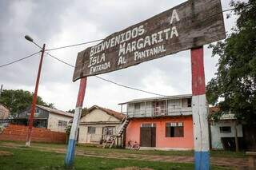
<svg viewBox="0 0 256 170"><path fill-rule="evenodd" d="M90 107L89 113L80 119L78 143L101 144L106 136L117 131L124 117L122 113L98 105Z"/></svg>

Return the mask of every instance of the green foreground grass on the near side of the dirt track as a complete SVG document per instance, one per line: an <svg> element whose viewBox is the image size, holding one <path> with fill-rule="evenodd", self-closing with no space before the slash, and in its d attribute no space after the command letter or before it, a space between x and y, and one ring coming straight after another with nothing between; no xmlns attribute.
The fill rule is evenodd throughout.
<svg viewBox="0 0 256 170"><path fill-rule="evenodd" d="M0 156L0 169L63 169L64 154L42 152L36 148L4 148L0 150L12 152L13 156ZM194 164L166 163L142 160L118 160L96 158L90 156L76 156L74 169L114 169L122 167L141 167L164 169L194 169ZM213 167L212 169L227 169Z"/></svg>

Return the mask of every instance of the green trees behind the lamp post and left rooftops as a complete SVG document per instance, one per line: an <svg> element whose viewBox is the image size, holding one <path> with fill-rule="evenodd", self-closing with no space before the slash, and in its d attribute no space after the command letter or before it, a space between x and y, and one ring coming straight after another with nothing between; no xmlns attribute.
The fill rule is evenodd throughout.
<svg viewBox="0 0 256 170"><path fill-rule="evenodd" d="M30 107L33 99L33 93L22 89L4 89L0 97L0 103L6 105L10 109L10 114L14 117L18 116L18 113ZM37 98L37 105L44 105L54 109L54 104L47 104L42 101L42 97Z"/></svg>

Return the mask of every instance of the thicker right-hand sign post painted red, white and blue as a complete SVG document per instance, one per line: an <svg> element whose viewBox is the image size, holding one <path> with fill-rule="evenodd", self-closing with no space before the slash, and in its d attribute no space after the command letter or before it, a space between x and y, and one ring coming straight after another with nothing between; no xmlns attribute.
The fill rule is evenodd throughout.
<svg viewBox="0 0 256 170"><path fill-rule="evenodd" d="M210 168L208 106L203 65L203 47L191 49L192 113L194 126L194 169Z"/></svg>

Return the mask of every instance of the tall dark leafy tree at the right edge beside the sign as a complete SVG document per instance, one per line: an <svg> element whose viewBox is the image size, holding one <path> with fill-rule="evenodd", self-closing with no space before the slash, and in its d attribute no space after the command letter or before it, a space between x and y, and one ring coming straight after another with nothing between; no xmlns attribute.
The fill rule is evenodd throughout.
<svg viewBox="0 0 256 170"><path fill-rule="evenodd" d="M254 125L256 123L256 1L231 1L230 4L234 7L238 20L225 41L210 45L213 49L212 56L219 57L218 72L206 86L206 96L210 104L218 105L220 113L234 113L237 121ZM238 149L238 144L236 145Z"/></svg>

